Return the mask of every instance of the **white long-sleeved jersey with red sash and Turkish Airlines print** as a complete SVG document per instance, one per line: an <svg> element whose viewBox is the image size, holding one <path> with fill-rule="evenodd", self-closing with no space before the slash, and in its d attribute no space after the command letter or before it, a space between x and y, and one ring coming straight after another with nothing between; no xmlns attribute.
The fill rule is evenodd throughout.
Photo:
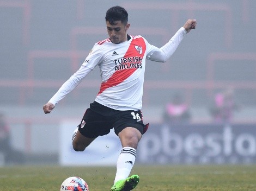
<svg viewBox="0 0 256 191"><path fill-rule="evenodd" d="M114 110L141 110L145 60L166 61L185 34L186 30L181 28L162 48L151 45L142 36L131 36L130 40L119 44L109 39L95 43L81 68L49 102L56 105L95 66L99 66L102 82L95 101Z"/></svg>

